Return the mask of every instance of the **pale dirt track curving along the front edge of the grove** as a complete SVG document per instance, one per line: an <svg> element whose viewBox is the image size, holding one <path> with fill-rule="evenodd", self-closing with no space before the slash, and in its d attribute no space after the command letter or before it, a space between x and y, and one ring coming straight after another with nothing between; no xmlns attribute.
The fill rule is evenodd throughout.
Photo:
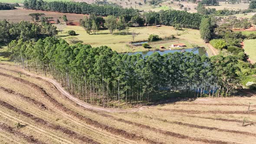
<svg viewBox="0 0 256 144"><path fill-rule="evenodd" d="M142 107L140 108L131 108L131 109L118 109L118 108L100 108L100 107L96 107L94 105L90 105L88 103L85 103L83 101L81 101L80 99L78 98L75 98L74 96L72 96L71 94L69 94L69 92L67 92L66 90L64 90L62 88L62 86L56 82L55 80L53 79L50 79L50 78L47 78L47 77L43 77L43 76L39 76L39 75L36 75L36 74L33 74L33 73L30 73L30 72L27 72L25 71L24 69L21 69L22 72L28 74L28 75L31 75L31 76L35 76L35 77L39 77L41 79L44 79L50 83L52 83L59 92L62 93L62 95L65 95L67 98L69 98L71 101L75 102L76 104L84 107L84 108L89 108L89 109L92 109L92 110L96 110L96 111L105 111L105 112L136 112L136 111L139 111L142 109Z"/></svg>

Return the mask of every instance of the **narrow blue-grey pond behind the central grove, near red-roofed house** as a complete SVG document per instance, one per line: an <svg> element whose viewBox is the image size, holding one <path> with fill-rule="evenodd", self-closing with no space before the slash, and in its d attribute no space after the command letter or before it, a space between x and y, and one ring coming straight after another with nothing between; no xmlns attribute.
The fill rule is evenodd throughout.
<svg viewBox="0 0 256 144"><path fill-rule="evenodd" d="M182 52L184 50L186 52L193 52L194 54L198 54L199 56L203 56L203 55L208 56L208 54L206 52L206 49L204 47L192 48L192 49L164 50L164 51L155 50L155 51L147 51L147 52L127 52L127 53L121 53L121 54L136 55L137 53L140 53L142 55L142 57L144 58L145 56L152 55L154 52L158 52L162 56L162 55L164 55L166 53L169 53L169 52L171 52L171 53Z"/></svg>

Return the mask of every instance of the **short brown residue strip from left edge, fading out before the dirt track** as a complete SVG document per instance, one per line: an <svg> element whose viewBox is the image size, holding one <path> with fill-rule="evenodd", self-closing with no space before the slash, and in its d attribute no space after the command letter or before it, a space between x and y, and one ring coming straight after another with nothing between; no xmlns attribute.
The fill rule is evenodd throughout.
<svg viewBox="0 0 256 144"><path fill-rule="evenodd" d="M9 94L13 94L13 95L19 96L20 98L23 98L23 99L25 99L25 100L27 100L27 101L30 101L30 102L32 102L33 104L39 106L39 108L41 108L41 109L44 109L44 110L47 109L46 105L44 105L42 102L36 101L36 100L34 100L33 98L27 97L27 96L22 95L22 94L20 94L20 93L16 93L16 92L14 92L14 91L11 90L11 89L4 88L4 87L0 86L0 90L3 90L4 92L7 92L7 93L9 93Z"/></svg>

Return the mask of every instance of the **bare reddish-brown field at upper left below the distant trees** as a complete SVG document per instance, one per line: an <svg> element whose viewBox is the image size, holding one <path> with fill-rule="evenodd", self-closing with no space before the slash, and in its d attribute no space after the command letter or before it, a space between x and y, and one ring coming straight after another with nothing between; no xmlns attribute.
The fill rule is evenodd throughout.
<svg viewBox="0 0 256 144"><path fill-rule="evenodd" d="M12 22L20 22L31 21L30 13L44 13L47 17L53 17L53 20L56 22L59 17L66 15L68 20L73 23L78 23L80 19L82 19L85 15L83 14L75 14L75 13L57 13L57 12L48 12L41 10L25 10L25 9L16 9L16 10L1 10L0 12L0 20L8 20ZM62 21L61 19L59 19Z"/></svg>

